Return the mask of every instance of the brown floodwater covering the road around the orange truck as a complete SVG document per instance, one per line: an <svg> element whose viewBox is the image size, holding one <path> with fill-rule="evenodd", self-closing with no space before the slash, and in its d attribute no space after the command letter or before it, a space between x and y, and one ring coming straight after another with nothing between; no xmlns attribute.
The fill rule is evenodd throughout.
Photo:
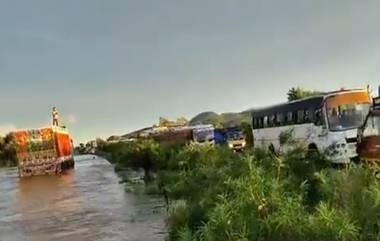
<svg viewBox="0 0 380 241"><path fill-rule="evenodd" d="M0 169L0 241L164 240L161 198L126 193L101 158L63 176L20 180Z"/></svg>

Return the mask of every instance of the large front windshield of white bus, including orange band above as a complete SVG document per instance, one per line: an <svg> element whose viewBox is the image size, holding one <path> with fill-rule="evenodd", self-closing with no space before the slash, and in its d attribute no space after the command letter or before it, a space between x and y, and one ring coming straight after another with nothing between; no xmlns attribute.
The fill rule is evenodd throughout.
<svg viewBox="0 0 380 241"><path fill-rule="evenodd" d="M368 115L370 98L366 92L336 95L326 100L326 107L331 131L358 128Z"/></svg>

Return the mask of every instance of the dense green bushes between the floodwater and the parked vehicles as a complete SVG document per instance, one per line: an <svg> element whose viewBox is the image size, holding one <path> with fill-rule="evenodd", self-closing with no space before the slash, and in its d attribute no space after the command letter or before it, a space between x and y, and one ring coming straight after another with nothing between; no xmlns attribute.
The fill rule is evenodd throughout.
<svg viewBox="0 0 380 241"><path fill-rule="evenodd" d="M284 144L289 143L287 133ZM293 144L295 146L295 144ZM333 169L296 147L281 157L263 150L109 144L118 169L142 167L169 201L173 241L375 241L380 184L361 166Z"/></svg>

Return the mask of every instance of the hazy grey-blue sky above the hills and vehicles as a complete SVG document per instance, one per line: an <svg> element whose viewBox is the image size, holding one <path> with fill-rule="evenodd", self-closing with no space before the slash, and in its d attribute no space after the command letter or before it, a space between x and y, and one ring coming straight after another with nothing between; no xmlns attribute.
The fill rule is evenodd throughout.
<svg viewBox="0 0 380 241"><path fill-rule="evenodd" d="M380 84L377 0L0 0L0 133L76 143Z"/></svg>

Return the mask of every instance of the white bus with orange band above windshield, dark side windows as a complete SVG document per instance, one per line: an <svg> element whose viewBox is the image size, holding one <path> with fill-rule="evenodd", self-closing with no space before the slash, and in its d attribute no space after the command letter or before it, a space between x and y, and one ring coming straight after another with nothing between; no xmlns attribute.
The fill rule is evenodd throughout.
<svg viewBox="0 0 380 241"><path fill-rule="evenodd" d="M252 113L255 148L278 153L280 134L292 130L292 139L310 150L327 153L334 163L357 158L358 127L369 112L370 94L353 89L329 92L287 102Z"/></svg>

